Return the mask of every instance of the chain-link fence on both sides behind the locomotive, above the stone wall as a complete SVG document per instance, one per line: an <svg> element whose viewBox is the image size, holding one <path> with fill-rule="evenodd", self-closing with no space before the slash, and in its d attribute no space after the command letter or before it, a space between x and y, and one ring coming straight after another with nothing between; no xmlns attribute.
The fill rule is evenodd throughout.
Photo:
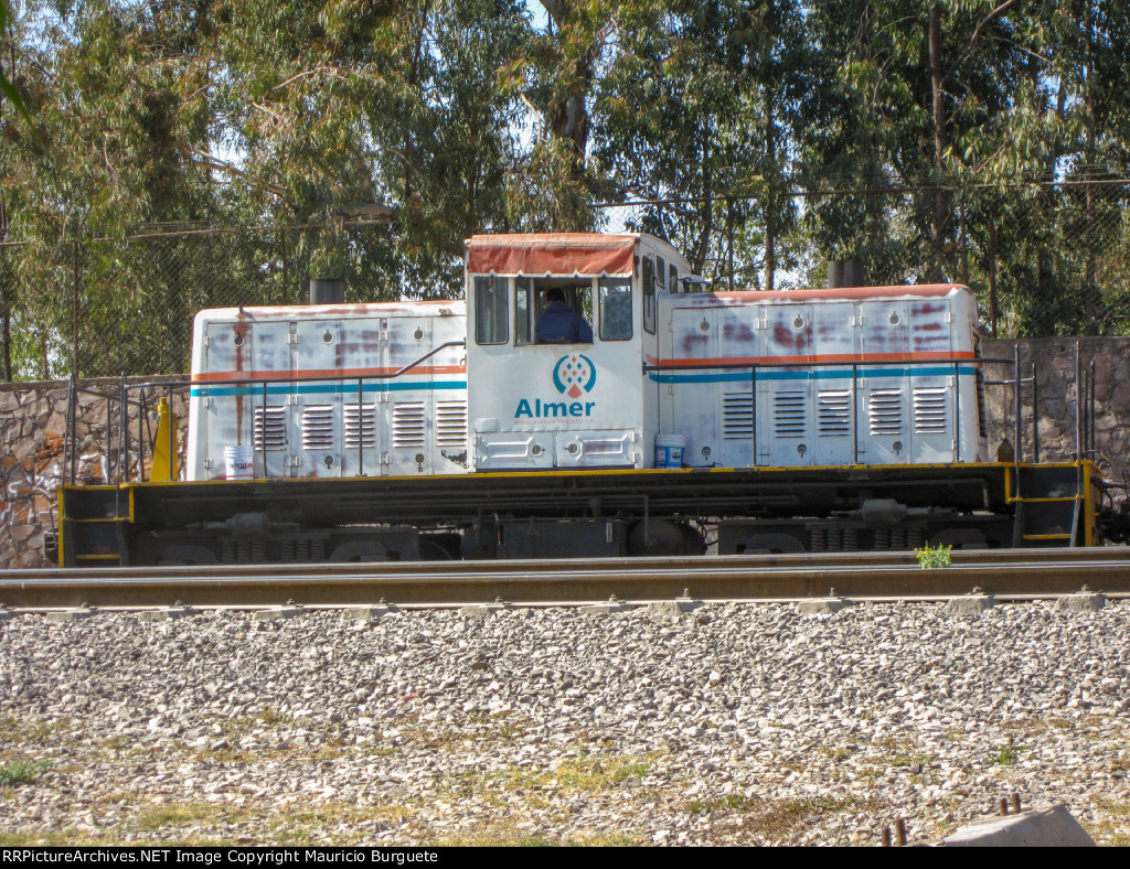
<svg viewBox="0 0 1130 869"><path fill-rule="evenodd" d="M1127 182L596 208L600 231L666 237L720 289L824 286L828 261L854 260L872 284L968 284L991 337L1130 334ZM947 216L940 227L935 213ZM303 304L311 276L344 276L349 301L459 292L457 257L440 278L414 271L393 231L386 222L346 222L5 239L0 376L182 374L198 310Z"/></svg>

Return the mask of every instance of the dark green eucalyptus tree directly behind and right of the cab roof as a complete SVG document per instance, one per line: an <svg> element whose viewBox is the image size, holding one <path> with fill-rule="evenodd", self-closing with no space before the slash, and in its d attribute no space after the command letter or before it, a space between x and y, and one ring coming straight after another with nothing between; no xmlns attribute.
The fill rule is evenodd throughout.
<svg viewBox="0 0 1130 869"><path fill-rule="evenodd" d="M641 227L696 270L773 289L812 87L799 5L637 3L620 16L596 102L600 170L621 195L661 203Z"/></svg>

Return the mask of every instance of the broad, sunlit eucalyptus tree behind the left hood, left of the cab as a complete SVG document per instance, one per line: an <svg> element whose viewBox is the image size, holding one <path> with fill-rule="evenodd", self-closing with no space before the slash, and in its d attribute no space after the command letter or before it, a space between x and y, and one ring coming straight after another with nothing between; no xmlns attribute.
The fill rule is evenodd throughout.
<svg viewBox="0 0 1130 869"><path fill-rule="evenodd" d="M450 291L462 238L505 209L521 8L233 0L227 15L225 126L251 201L312 223L297 254L368 298ZM397 226L350 237L342 218L365 204Z"/></svg>

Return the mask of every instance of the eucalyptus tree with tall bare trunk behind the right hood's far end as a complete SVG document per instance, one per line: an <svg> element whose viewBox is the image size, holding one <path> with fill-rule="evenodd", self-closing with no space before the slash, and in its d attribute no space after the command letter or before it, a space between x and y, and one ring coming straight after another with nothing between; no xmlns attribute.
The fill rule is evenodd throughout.
<svg viewBox="0 0 1130 869"><path fill-rule="evenodd" d="M916 191L903 202L837 200L825 209L817 218L841 247L898 248L905 276L951 276L957 266L947 253L960 220L947 188L964 177L971 149L990 139L989 153L1012 147L1000 120L1034 56L1020 11L1016 0L811 7L807 20L826 69L838 69L827 121L808 137L809 172L825 170L831 186ZM853 216L881 240L860 237Z"/></svg>

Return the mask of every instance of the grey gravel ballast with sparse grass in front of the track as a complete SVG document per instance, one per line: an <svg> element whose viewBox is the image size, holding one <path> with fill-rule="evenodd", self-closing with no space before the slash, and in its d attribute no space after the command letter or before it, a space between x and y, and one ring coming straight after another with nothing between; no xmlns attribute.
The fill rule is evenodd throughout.
<svg viewBox="0 0 1130 869"><path fill-rule="evenodd" d="M0 622L0 844L1130 842L1130 603Z"/></svg>

